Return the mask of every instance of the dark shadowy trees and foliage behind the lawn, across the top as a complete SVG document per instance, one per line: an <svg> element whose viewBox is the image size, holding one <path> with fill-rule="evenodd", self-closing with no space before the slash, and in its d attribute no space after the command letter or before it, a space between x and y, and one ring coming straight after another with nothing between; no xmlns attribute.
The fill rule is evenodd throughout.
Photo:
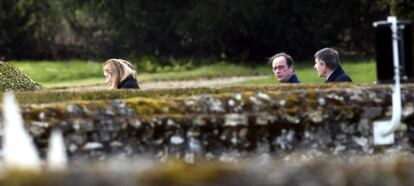
<svg viewBox="0 0 414 186"><path fill-rule="evenodd" d="M414 20L410 0L0 0L0 55L264 60L322 47L372 55L372 22Z"/></svg>

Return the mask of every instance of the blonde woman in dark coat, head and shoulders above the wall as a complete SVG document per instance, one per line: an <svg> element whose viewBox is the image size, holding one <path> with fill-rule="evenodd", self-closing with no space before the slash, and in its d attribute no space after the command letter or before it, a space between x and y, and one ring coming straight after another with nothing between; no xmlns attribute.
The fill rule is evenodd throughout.
<svg viewBox="0 0 414 186"><path fill-rule="evenodd" d="M112 89L139 89L137 73L127 60L109 59L103 66L105 83Z"/></svg>

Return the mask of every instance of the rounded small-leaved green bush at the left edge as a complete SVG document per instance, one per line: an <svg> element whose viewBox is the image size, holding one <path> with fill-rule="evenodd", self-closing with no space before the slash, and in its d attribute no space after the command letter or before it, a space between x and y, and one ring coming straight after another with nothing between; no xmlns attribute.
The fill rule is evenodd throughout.
<svg viewBox="0 0 414 186"><path fill-rule="evenodd" d="M40 84L34 82L29 76L6 62L0 61L0 91L7 90L40 90Z"/></svg>

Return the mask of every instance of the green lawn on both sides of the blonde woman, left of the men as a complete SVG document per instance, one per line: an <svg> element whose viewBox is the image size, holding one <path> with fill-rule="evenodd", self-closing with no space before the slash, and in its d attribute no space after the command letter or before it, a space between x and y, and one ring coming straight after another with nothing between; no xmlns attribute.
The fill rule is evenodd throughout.
<svg viewBox="0 0 414 186"><path fill-rule="evenodd" d="M102 84L104 82L102 63L98 62L15 61L12 63L23 73L45 87ZM140 73L140 69L137 70L138 79L141 82L149 82L266 75L269 69L266 66L252 68L236 64L217 63L191 70L175 70L173 72Z"/></svg>

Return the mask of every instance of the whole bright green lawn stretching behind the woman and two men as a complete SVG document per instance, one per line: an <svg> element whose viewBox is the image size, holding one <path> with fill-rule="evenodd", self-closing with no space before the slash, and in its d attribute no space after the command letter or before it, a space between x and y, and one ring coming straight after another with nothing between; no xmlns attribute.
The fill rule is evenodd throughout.
<svg viewBox="0 0 414 186"><path fill-rule="evenodd" d="M23 73L45 87L97 85L104 81L102 63L94 61L12 61ZM313 70L313 61L296 64L296 74L303 83L323 82ZM375 81L375 63L373 60L344 60L345 71L356 83L372 83ZM138 69L141 82L176 81L192 79L211 79L232 76L267 75L263 79L242 82L243 84L274 84L277 83L270 65L255 67L228 63L216 63L195 67L189 70L174 72L149 73Z"/></svg>

